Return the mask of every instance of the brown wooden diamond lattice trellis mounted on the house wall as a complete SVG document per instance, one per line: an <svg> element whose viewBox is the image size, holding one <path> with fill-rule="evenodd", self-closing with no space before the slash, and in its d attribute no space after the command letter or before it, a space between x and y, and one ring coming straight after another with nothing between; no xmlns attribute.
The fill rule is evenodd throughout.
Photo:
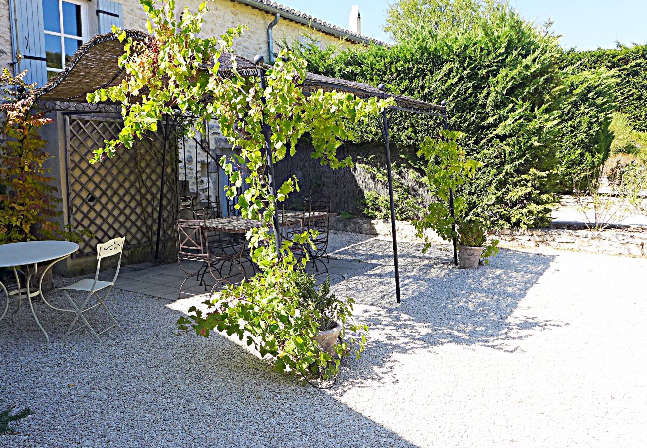
<svg viewBox="0 0 647 448"><path fill-rule="evenodd" d="M67 212L76 230L91 230L77 255L95 253L97 243L126 237L127 247L155 251L162 174L162 132L121 150L113 159L91 164L92 151L115 139L122 122L93 116L66 117ZM161 127L161 126L160 126ZM169 141L162 212L161 246L173 243L177 213L177 142ZM164 253L162 251L161 253Z"/></svg>

